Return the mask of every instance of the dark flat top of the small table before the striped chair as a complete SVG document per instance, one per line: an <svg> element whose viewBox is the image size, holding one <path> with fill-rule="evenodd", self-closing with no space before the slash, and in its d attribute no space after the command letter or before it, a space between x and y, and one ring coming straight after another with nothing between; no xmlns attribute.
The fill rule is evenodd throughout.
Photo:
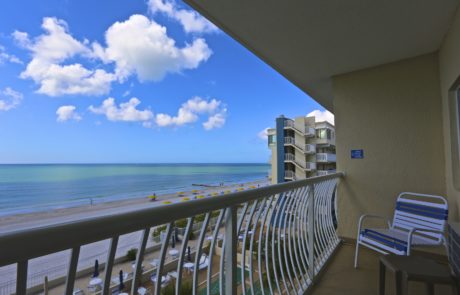
<svg viewBox="0 0 460 295"><path fill-rule="evenodd" d="M420 256L385 255L380 261L392 271L405 272L409 277L450 278L447 265Z"/></svg>

